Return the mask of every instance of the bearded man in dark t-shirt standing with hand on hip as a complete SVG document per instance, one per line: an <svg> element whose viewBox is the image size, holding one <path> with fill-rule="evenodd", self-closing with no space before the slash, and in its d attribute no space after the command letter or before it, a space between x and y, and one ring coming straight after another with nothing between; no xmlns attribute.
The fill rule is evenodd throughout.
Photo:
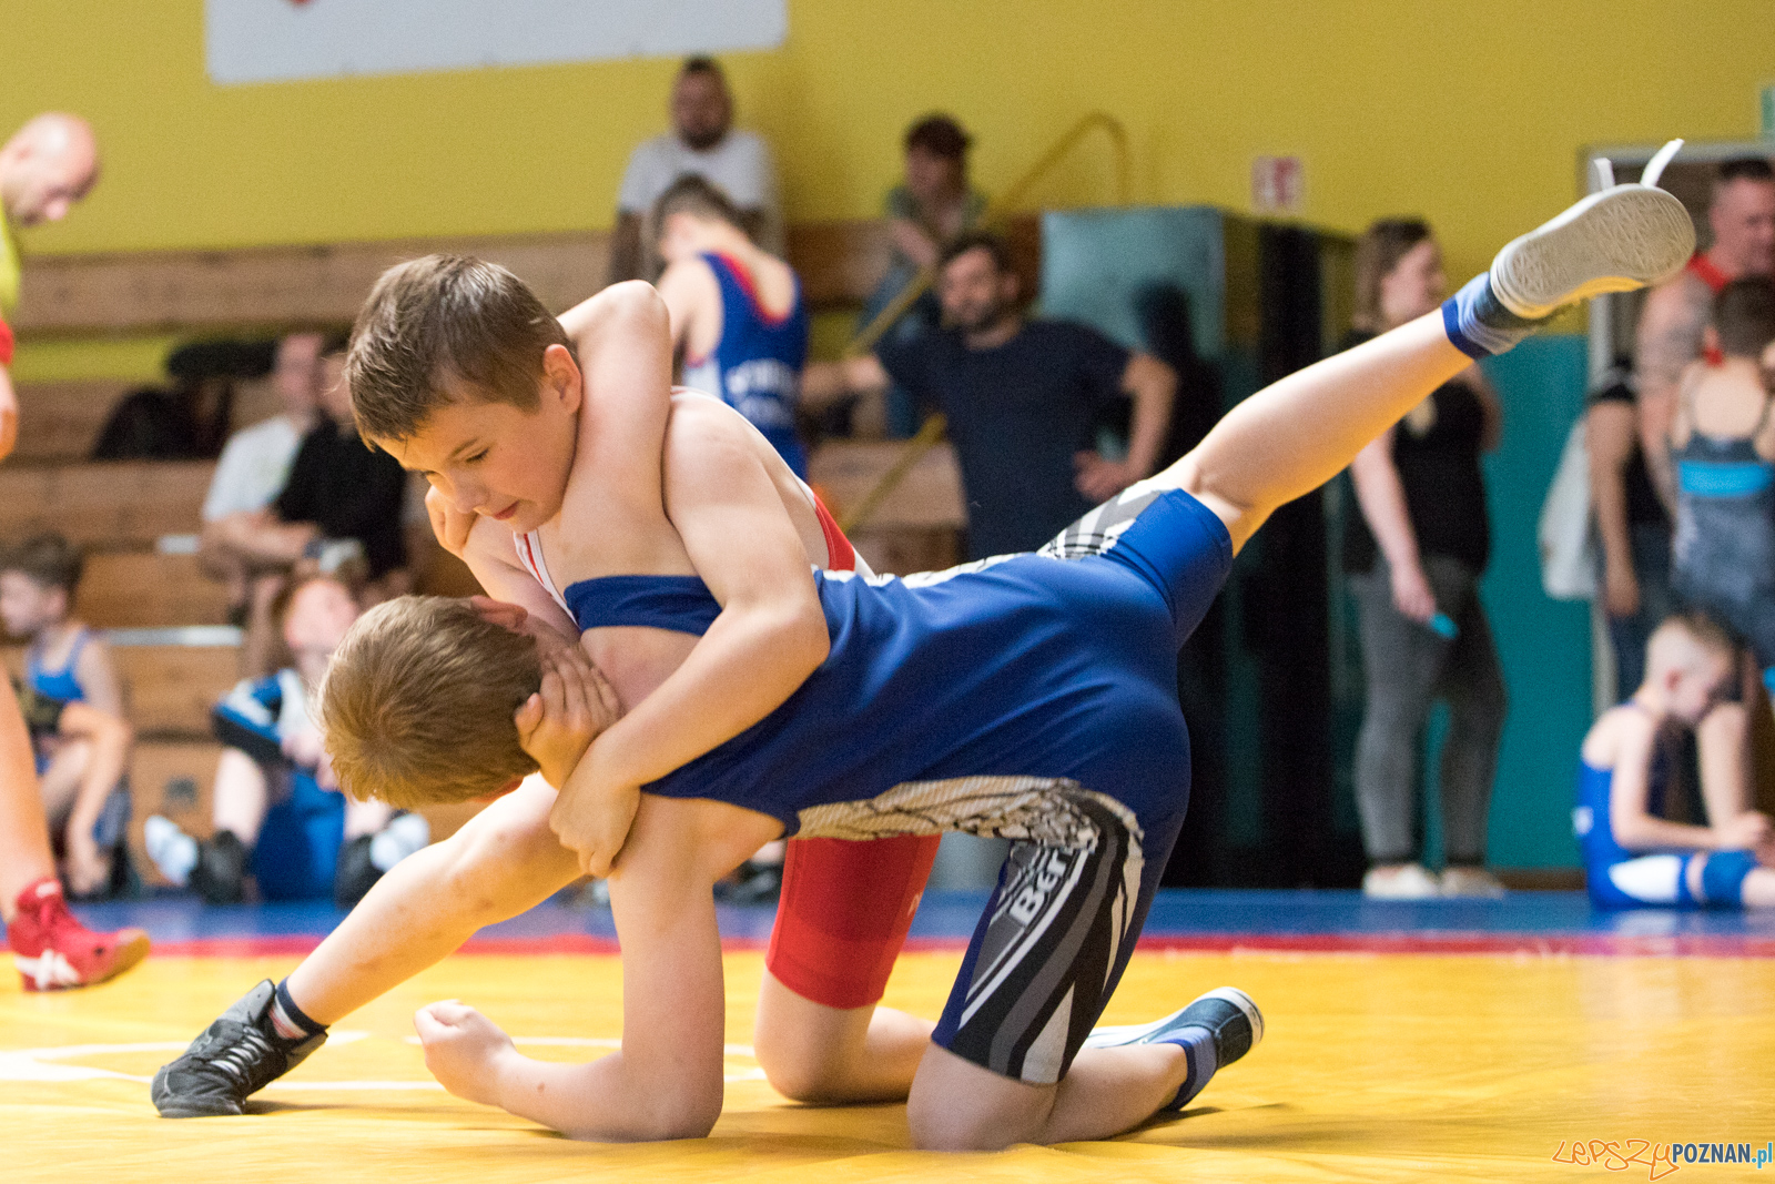
<svg viewBox="0 0 1775 1184"><path fill-rule="evenodd" d="M873 357L809 366L816 405L891 382L943 412L962 469L971 559L1035 550L1092 506L1152 474L1172 422L1177 373L1102 334L1026 321L1005 243L966 234L943 252L944 330L882 343ZM1097 451L1097 426L1132 399L1125 458Z"/></svg>

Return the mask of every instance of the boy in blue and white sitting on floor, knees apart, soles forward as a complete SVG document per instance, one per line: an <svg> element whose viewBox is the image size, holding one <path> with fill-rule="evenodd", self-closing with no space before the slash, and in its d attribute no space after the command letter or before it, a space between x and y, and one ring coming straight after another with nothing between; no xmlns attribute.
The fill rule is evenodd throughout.
<svg viewBox="0 0 1775 1184"><path fill-rule="evenodd" d="M209 904L245 900L250 873L264 900L332 895L350 907L424 847L430 829L419 815L348 801L309 717L309 696L357 620L351 591L328 577L311 579L282 609L293 664L241 682L215 708L217 738L229 747L217 765L211 836L197 841L154 815L144 838L162 875L195 888Z"/></svg>

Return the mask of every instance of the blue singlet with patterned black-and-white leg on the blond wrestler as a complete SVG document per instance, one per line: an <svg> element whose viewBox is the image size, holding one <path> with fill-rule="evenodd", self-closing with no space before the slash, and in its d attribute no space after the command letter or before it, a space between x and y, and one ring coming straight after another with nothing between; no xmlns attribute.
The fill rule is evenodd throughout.
<svg viewBox="0 0 1775 1184"><path fill-rule="evenodd" d="M1182 825L1177 650L1230 564L1221 520L1172 490L1124 493L1038 554L907 579L816 572L820 669L643 788L746 806L806 838L1014 840L934 1038L994 1072L1058 1081ZM580 628L698 635L721 611L698 577L602 577L566 602Z"/></svg>

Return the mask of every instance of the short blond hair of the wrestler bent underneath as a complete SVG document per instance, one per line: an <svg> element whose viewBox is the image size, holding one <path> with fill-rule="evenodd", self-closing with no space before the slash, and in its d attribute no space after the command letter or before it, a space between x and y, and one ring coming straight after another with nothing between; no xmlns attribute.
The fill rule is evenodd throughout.
<svg viewBox="0 0 1775 1184"><path fill-rule="evenodd" d="M536 643L467 600L383 602L351 625L320 689L339 785L406 809L492 797L536 772L511 717L540 685Z"/></svg>

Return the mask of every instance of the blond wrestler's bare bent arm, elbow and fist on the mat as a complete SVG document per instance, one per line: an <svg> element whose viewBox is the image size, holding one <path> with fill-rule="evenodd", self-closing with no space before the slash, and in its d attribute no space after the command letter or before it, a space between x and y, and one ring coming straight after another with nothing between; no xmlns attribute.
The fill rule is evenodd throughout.
<svg viewBox="0 0 1775 1184"><path fill-rule="evenodd" d="M426 1067L451 1093L572 1138L701 1138L722 1101L724 996L710 877L698 866L696 802L650 799L611 875L623 943L623 1047L584 1065L522 1056L472 1008L444 1003L414 1022ZM689 829L690 834L682 831Z"/></svg>

